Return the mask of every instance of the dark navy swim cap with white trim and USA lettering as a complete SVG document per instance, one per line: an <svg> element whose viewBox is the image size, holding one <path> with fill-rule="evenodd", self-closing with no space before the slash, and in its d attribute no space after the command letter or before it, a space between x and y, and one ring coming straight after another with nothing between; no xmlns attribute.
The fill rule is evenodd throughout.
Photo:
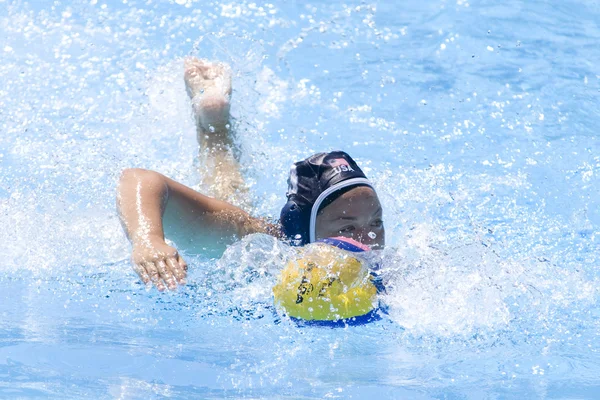
<svg viewBox="0 0 600 400"><path fill-rule="evenodd" d="M355 186L373 188L358 164L343 151L318 153L296 162L288 179L288 202L281 210L284 235L298 246L314 242L319 208Z"/></svg>

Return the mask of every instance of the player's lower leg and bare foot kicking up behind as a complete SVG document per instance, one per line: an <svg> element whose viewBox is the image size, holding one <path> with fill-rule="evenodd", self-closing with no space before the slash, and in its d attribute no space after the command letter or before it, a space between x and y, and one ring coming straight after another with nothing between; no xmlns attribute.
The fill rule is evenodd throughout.
<svg viewBox="0 0 600 400"><path fill-rule="evenodd" d="M231 69L197 58L185 60L185 86L192 100L198 144L205 153L202 183L218 199L248 206L248 189L234 155L230 122Z"/></svg>

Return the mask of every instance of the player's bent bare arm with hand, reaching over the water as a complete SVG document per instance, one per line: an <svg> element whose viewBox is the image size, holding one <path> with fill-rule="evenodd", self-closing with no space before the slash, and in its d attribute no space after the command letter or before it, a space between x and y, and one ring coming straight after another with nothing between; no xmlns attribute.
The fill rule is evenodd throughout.
<svg viewBox="0 0 600 400"><path fill-rule="evenodd" d="M133 247L133 263L140 278L162 281L175 288L185 278L187 266L177 251L165 243L163 223L174 233L182 227L202 230L215 242L263 232L277 236L279 229L245 211L182 185L158 172L126 169L117 189L117 208ZM177 262L176 262L177 261Z"/></svg>

